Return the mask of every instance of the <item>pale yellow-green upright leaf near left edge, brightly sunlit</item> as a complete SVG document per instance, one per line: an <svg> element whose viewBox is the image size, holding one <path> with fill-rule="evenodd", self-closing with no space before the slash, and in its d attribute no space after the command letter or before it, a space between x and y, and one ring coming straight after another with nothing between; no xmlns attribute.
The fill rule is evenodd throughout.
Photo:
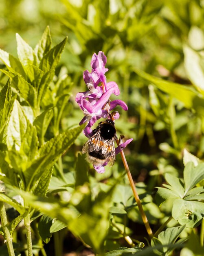
<svg viewBox="0 0 204 256"><path fill-rule="evenodd" d="M27 129L27 120L20 103L15 100L9 124L7 127L7 147L11 150L13 147L20 150L22 139Z"/></svg>

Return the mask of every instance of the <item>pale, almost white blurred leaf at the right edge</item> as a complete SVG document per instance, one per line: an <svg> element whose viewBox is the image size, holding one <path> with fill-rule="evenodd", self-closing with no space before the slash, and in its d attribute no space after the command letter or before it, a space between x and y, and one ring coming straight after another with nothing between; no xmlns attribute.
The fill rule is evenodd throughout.
<svg viewBox="0 0 204 256"><path fill-rule="evenodd" d="M204 69L200 65L201 59L203 56L184 45L184 65L187 75L197 89L204 94Z"/></svg>

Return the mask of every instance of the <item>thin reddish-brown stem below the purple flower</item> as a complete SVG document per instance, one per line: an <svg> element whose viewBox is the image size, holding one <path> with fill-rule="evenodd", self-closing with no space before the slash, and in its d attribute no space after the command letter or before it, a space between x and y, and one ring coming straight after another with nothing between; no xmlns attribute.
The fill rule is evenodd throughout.
<svg viewBox="0 0 204 256"><path fill-rule="evenodd" d="M146 214L145 214L145 212L144 212L144 210L143 210L142 204L141 204L141 202L140 202L139 195L138 195L138 193L137 193L137 191L136 191L136 187L135 187L134 181L133 181L133 179L132 179L132 175L131 175L131 173L130 173L130 171L129 171L129 166L128 166L128 164L127 164L127 161L126 161L125 154L124 154L123 150L121 151L121 158L122 158L122 160L123 160L123 164L124 164L125 170L126 170L126 172L127 172L127 177L128 177L130 186L131 186L131 188L132 188L132 192L133 192L134 198L135 198L136 203L137 203L137 205L138 205L138 209L139 209L139 211L140 211L142 220L143 220L143 222L144 222L144 224L145 224L145 228L146 228L146 230L147 230L147 233L148 233L148 235L149 235L149 238L152 238L152 237L153 237L153 233L152 233L151 227L149 226L149 222L148 222L147 216L146 216Z"/></svg>

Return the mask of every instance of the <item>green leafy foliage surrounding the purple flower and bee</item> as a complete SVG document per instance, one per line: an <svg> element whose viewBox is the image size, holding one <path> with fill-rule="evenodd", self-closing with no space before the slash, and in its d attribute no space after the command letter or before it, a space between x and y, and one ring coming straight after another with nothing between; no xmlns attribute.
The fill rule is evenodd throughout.
<svg viewBox="0 0 204 256"><path fill-rule="evenodd" d="M203 255L203 1L0 7L0 234L15 255L54 255L53 241L62 255L67 239L75 242L64 253ZM99 50L129 108L117 134L134 138L125 155L151 239L120 157L98 174L80 153L86 138L74 99ZM8 255L5 245L0 255Z"/></svg>

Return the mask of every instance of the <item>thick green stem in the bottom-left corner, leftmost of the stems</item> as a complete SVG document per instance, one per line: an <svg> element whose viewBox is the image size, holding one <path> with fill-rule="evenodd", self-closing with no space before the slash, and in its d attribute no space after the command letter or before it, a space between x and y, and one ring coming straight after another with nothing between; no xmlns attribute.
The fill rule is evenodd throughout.
<svg viewBox="0 0 204 256"><path fill-rule="evenodd" d="M15 256L12 238L8 228L7 213L4 206L4 202L0 202L0 217L2 222L2 229L4 232L4 243L7 245L9 256Z"/></svg>

